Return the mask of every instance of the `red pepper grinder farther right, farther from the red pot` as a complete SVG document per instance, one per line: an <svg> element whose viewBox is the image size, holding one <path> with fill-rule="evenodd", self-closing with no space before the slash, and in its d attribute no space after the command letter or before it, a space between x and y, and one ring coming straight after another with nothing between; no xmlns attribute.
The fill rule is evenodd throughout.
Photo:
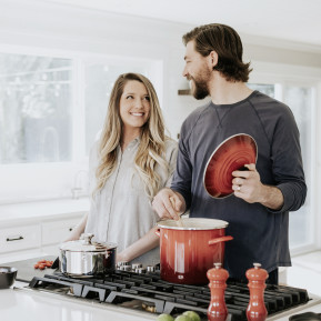
<svg viewBox="0 0 321 321"><path fill-rule="evenodd" d="M264 321L268 311L264 304L265 280L269 274L264 269L261 269L260 263L253 263L254 268L247 271L250 289L250 302L247 309L247 318L249 321Z"/></svg>

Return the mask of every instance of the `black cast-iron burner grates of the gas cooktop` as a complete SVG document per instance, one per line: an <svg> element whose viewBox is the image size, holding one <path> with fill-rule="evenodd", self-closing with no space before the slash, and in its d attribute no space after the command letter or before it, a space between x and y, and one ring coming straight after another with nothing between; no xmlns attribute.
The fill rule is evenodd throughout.
<svg viewBox="0 0 321 321"><path fill-rule="evenodd" d="M100 279L74 279L61 273L33 278L29 283L32 289L53 291L54 287L67 289L68 294L94 299L101 303L121 304L138 300L154 307L157 313L177 314L193 310L205 317L211 294L207 285L183 285L165 282L158 272L138 274L117 270ZM225 303L231 321L247 320L249 289L244 283L228 280ZM264 292L269 317L309 301L308 292L283 285L267 285ZM150 310L149 310L150 311Z"/></svg>

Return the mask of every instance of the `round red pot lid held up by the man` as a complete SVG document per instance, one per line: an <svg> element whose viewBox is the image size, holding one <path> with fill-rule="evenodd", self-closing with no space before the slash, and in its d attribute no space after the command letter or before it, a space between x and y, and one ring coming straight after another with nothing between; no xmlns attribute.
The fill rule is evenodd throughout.
<svg viewBox="0 0 321 321"><path fill-rule="evenodd" d="M225 139L211 154L203 177L205 191L219 199L233 193L232 172L255 163L258 147L255 140L245 133Z"/></svg>

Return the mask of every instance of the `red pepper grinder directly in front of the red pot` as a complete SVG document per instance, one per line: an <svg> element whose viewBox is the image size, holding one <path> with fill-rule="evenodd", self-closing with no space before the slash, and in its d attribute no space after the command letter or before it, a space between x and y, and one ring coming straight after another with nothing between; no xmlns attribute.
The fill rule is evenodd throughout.
<svg viewBox="0 0 321 321"><path fill-rule="evenodd" d="M228 317L224 291L229 272L221 267L222 263L214 263L214 268L207 273L210 280L209 288L211 289L211 302L208 309L209 321L225 321Z"/></svg>

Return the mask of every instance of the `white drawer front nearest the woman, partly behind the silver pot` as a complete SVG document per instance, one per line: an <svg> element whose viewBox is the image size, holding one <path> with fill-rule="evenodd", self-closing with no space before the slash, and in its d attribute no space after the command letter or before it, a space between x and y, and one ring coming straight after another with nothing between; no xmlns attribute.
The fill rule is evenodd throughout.
<svg viewBox="0 0 321 321"><path fill-rule="evenodd" d="M61 220L59 222L42 223L42 245L58 244L64 241L80 220L81 217L78 219Z"/></svg>

